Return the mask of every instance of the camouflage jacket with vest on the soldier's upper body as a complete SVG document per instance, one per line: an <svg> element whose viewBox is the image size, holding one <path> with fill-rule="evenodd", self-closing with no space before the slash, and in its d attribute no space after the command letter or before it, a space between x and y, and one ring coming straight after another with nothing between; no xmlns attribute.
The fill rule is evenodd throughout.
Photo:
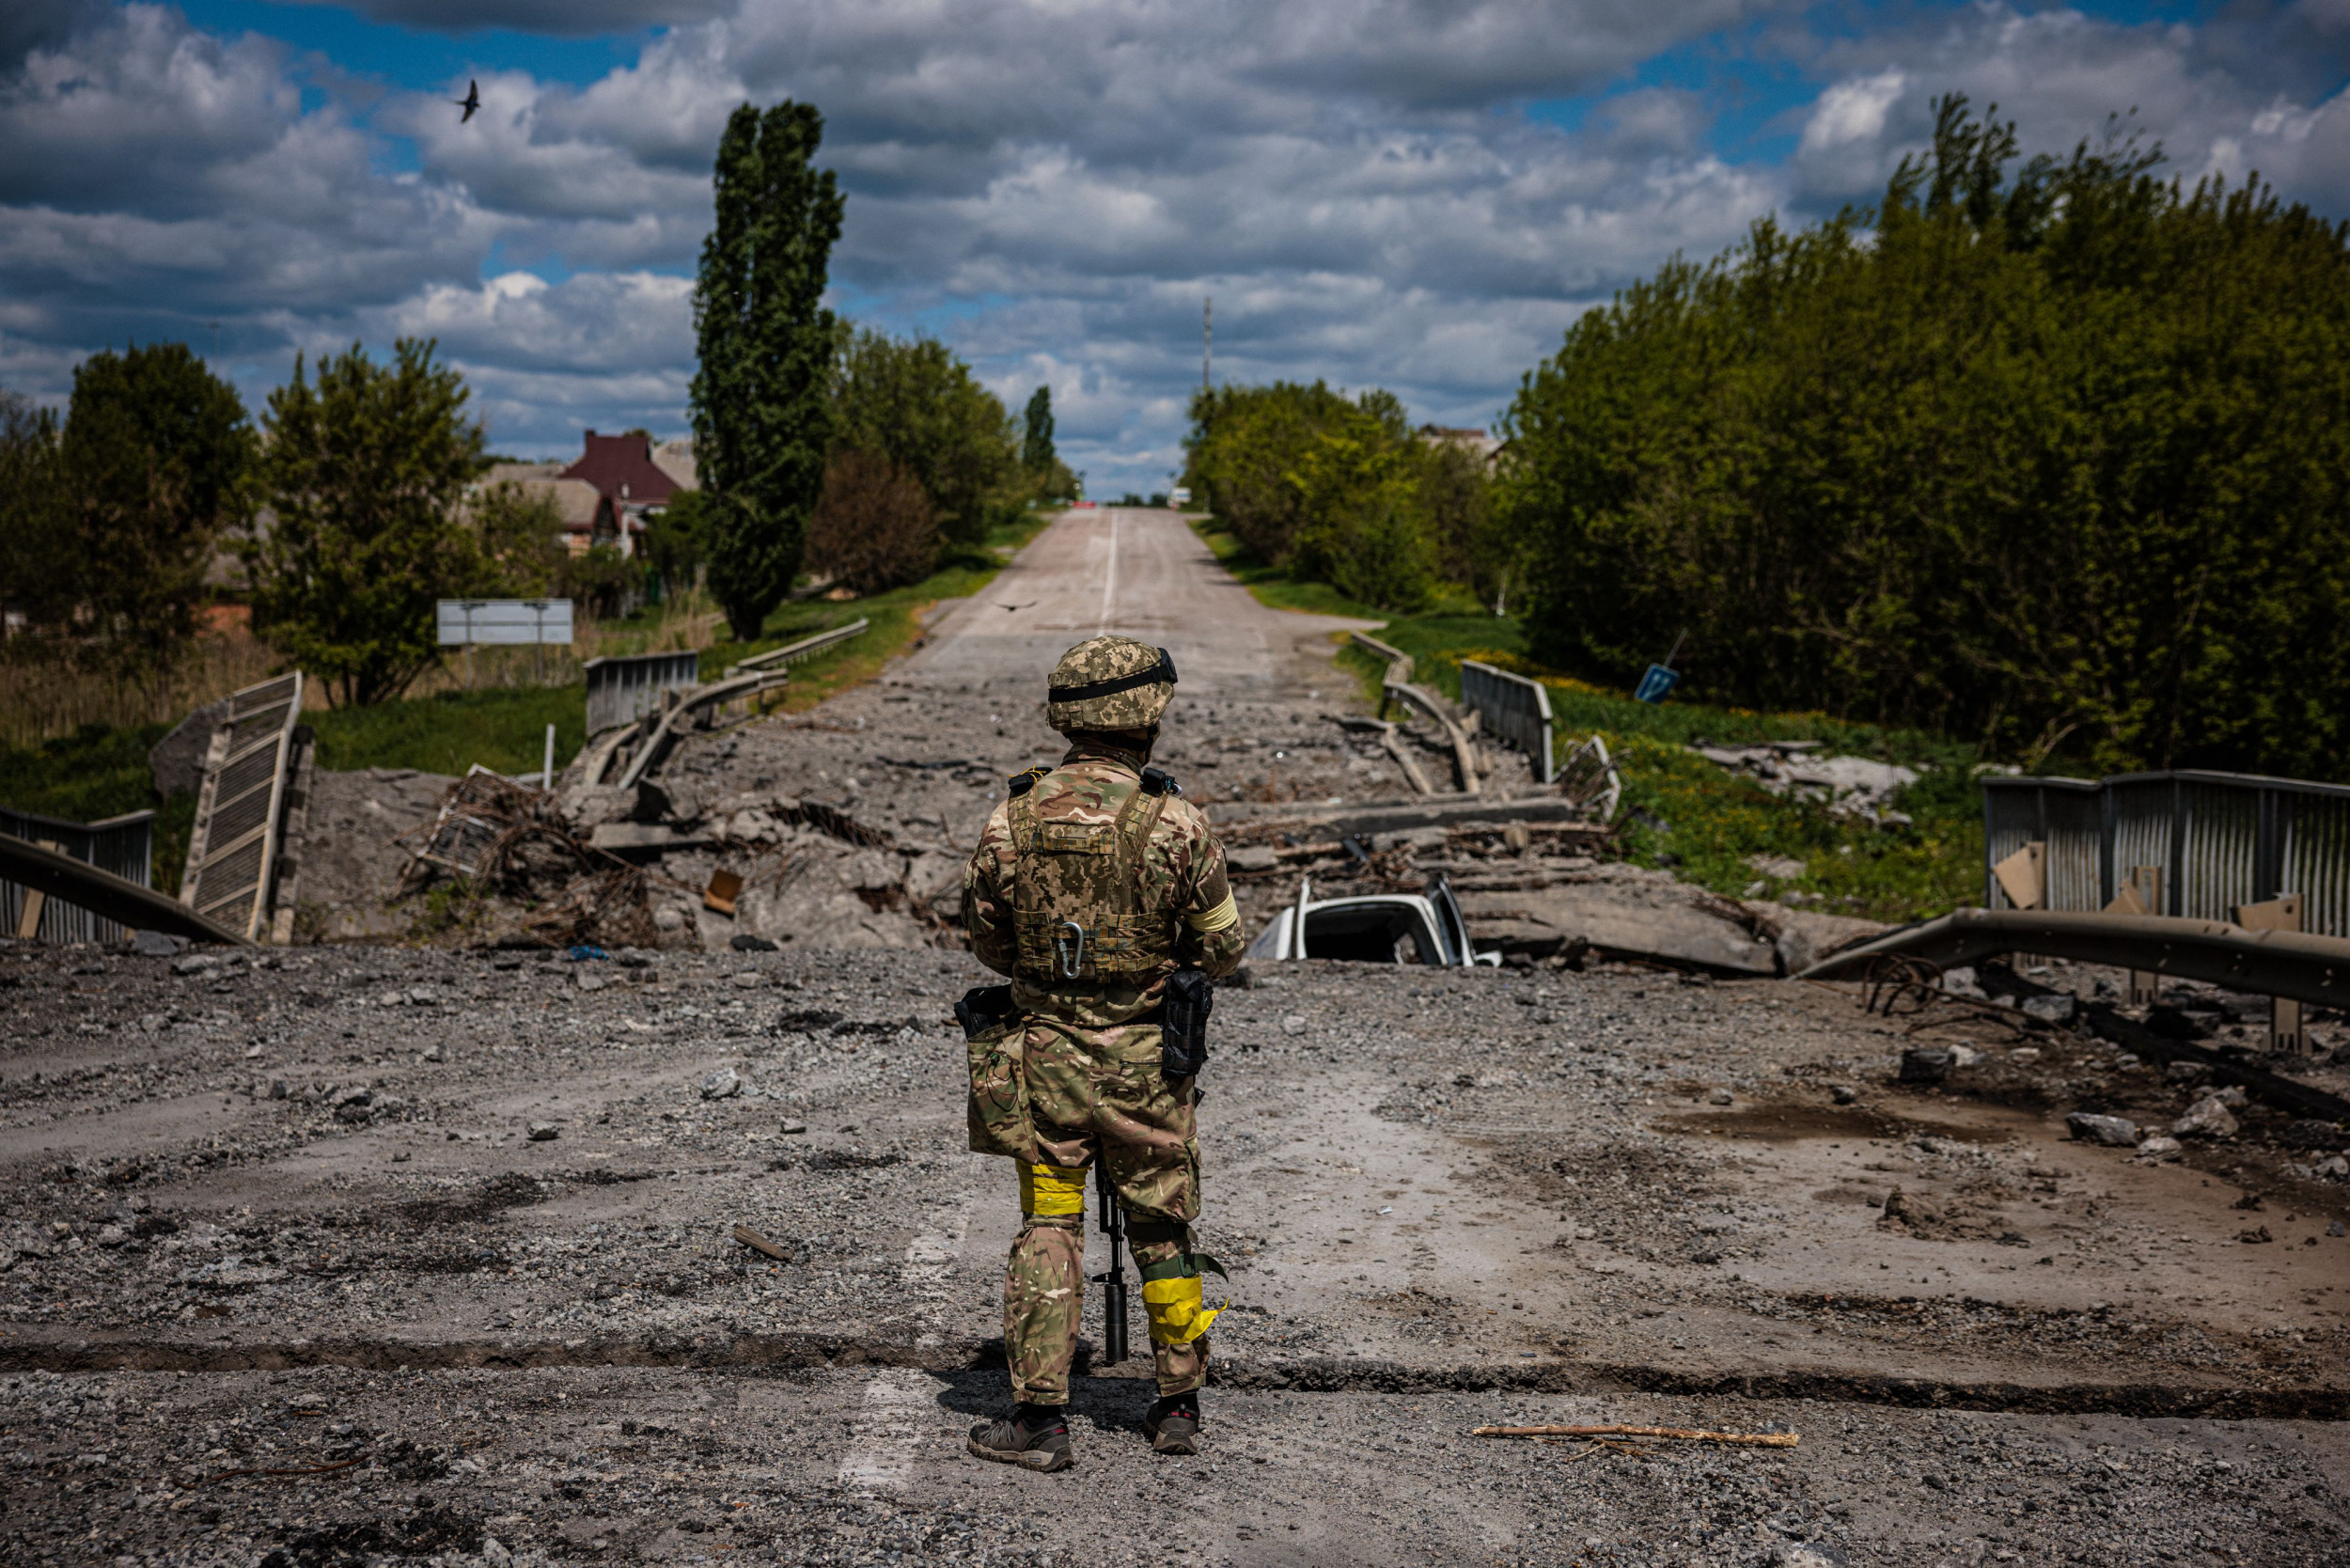
<svg viewBox="0 0 2350 1568"><path fill-rule="evenodd" d="M1137 797L1142 757L1083 743L987 816L964 870L964 931L982 964L1013 978L1025 1011L1107 1030L1154 1011L1180 964L1210 976L1238 966L1246 938L1215 830L1180 795ZM1133 830L1135 853L1121 853L1121 827ZM1076 980L1046 945L1046 929L1062 922L1090 940Z"/></svg>

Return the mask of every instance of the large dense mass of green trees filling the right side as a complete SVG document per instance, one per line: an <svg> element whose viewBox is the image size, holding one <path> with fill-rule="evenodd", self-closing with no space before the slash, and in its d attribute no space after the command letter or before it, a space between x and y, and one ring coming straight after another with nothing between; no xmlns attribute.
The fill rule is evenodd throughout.
<svg viewBox="0 0 2350 1568"><path fill-rule="evenodd" d="M2016 160L1939 106L1873 212L1582 317L1497 496L1537 656L2068 766L2350 776L2350 226Z"/></svg>

